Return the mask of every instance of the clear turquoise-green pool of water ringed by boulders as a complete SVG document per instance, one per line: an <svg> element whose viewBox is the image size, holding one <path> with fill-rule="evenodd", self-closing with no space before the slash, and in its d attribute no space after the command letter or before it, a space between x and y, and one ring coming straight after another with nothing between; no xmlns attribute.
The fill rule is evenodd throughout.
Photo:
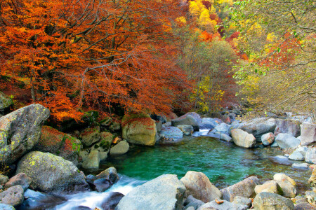
<svg viewBox="0 0 316 210"><path fill-rule="evenodd" d="M211 137L187 137L176 145L133 146L129 153L112 157L102 168L117 168L119 174L150 180L162 174L185 176L187 171L203 172L218 188L230 186L248 176L262 181L282 172L298 182L298 190L308 190L311 174L296 172L291 166L276 165L269 158L282 155L277 148L246 149Z"/></svg>

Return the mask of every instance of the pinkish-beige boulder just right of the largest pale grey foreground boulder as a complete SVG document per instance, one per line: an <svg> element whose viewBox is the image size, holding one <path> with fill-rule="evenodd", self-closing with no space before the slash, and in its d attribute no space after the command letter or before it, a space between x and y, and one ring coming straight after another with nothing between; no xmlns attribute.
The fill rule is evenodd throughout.
<svg viewBox="0 0 316 210"><path fill-rule="evenodd" d="M222 193L209 181L209 178L202 172L189 171L180 181L183 182L189 194L202 202L211 202L220 199Z"/></svg>

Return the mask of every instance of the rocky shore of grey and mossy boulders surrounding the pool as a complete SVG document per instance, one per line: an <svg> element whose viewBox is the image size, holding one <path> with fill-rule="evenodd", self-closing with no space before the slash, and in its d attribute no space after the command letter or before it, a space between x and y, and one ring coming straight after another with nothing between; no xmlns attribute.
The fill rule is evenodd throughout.
<svg viewBox="0 0 316 210"><path fill-rule="evenodd" d="M8 101L8 100L7 100ZM10 106L10 103L2 103ZM7 110L8 107L1 107ZM179 118L129 113L121 123L112 118L88 120L80 130L60 132L44 125L49 111L32 104L0 118L0 209L49 209L65 202L63 195L87 191L104 192L119 180L114 167L98 175L81 169L98 169L108 156L121 155L134 144L178 144L184 135L209 130L218 141L243 148L279 147L284 155L272 158L279 164L302 161L293 168L311 170L312 190L297 195L296 181L275 174L269 181L251 176L228 188L218 189L202 172L189 171L182 179L164 174L131 190L114 193L103 209L315 209L316 125L304 116L271 114L239 122L238 109L202 118L186 113ZM91 120L92 118L92 120ZM94 121L93 121L94 120ZM93 123L91 123L93 121ZM80 127L80 126L79 126ZM305 162L303 162L305 161ZM53 204L47 202L54 200ZM84 207L78 207L84 209ZM89 209L86 207L86 209Z"/></svg>

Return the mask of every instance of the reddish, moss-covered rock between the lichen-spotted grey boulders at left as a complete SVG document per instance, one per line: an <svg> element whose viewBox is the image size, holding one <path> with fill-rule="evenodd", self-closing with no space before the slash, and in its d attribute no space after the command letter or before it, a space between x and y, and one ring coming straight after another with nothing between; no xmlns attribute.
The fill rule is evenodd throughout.
<svg viewBox="0 0 316 210"><path fill-rule="evenodd" d="M41 137L39 142L34 146L35 151L52 153L66 160L78 164L81 141L70 134L65 134L53 127L41 127Z"/></svg>

